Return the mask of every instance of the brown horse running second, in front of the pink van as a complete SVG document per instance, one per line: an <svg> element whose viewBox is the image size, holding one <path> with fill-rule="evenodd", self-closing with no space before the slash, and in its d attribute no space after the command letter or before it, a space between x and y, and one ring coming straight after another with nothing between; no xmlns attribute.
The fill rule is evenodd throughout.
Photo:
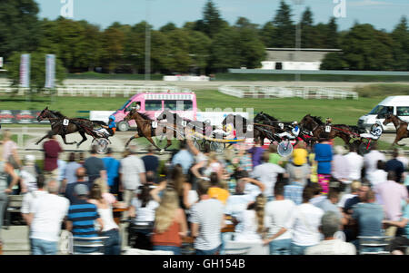
<svg viewBox="0 0 409 273"><path fill-rule="evenodd" d="M166 136L166 127L161 124L157 124L158 128L153 128L153 122L155 121L150 119L145 113L137 112L136 109L133 109L124 118L125 122L129 122L130 120L134 120L136 122L137 132L128 141L126 141L125 147L129 145L129 142L140 137L145 137L145 139L151 142L152 145L154 145L155 148L159 151L165 151L169 146L172 145L172 141L168 137L166 137L167 143L165 149L161 149L155 144L155 141L152 139L152 137L159 136L156 135L156 132L160 132L158 130L160 130L161 128L163 128L163 133L161 133L161 136Z"/></svg>

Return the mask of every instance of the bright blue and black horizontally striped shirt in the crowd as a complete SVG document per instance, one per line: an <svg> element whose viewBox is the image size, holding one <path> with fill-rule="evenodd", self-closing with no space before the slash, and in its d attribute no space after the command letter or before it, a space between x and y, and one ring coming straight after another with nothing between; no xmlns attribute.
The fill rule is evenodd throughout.
<svg viewBox="0 0 409 273"><path fill-rule="evenodd" d="M94 222L98 218L96 206L86 200L78 200L68 209L68 220L73 222L75 237L97 237Z"/></svg>

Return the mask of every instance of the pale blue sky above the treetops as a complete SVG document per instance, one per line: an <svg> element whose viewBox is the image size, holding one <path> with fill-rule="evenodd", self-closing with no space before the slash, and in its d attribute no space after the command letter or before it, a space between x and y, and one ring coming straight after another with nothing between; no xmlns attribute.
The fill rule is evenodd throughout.
<svg viewBox="0 0 409 273"><path fill-rule="evenodd" d="M35 0L40 5L40 17L54 20L61 14L62 2L68 0ZM74 3L74 19L87 20L102 28L115 21L136 24L145 20L146 2L150 1L149 22L157 29L173 22L182 26L185 22L202 18L206 0L71 0ZM293 5L292 0L285 0ZM338 18L341 30L350 28L354 22L373 24L377 29L390 31L402 15L409 19L408 0L304 0L300 14L308 5L314 14L314 23L328 22L334 15L339 1L346 3L346 17ZM244 16L254 24L265 24L273 19L280 0L214 0L224 20L234 24ZM295 14L293 8L293 14Z"/></svg>

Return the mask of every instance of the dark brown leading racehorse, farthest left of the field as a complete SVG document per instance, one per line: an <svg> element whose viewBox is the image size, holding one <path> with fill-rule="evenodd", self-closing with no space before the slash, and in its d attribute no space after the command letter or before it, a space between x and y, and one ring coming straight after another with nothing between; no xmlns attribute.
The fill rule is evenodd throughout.
<svg viewBox="0 0 409 273"><path fill-rule="evenodd" d="M51 131L54 134L59 134L63 138L63 141L66 145L75 144L76 141L67 142L65 139L65 135L74 133L74 132L79 132L81 136L83 137L83 140L76 144L77 148L83 142L87 140L85 134L89 134L94 139L98 137L96 133L94 132L95 126L101 126L101 125L106 126L105 122L90 121L87 119L79 119L79 118L75 118L75 119L67 118L61 112L55 112L55 111L49 110L48 106L45 107L45 109L42 112L40 112L40 114L37 117L38 122L41 122L43 120L48 120L51 123ZM35 145L38 145L38 143L43 141L47 137L47 135L45 135L41 140L36 141Z"/></svg>

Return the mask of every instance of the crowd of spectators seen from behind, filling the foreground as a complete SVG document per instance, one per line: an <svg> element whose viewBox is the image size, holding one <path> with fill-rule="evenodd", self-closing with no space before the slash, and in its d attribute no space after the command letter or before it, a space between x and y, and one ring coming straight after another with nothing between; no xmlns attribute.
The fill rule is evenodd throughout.
<svg viewBox="0 0 409 273"><path fill-rule="evenodd" d="M62 229L106 237L105 254L121 254L115 208L126 208L123 223L148 223L145 249L174 254L189 241L197 255L224 254L230 242L270 255L404 254L408 244L409 166L400 150L389 157L374 145L361 156L354 146L301 141L281 158L276 143L238 142L215 153L187 139L163 161L151 147L140 157L135 145L116 158L95 147L88 157L65 154L50 133L43 159L21 160L10 132L3 140L0 231L7 196L24 195L32 254L56 254ZM363 246L362 237L387 237L387 246Z"/></svg>

